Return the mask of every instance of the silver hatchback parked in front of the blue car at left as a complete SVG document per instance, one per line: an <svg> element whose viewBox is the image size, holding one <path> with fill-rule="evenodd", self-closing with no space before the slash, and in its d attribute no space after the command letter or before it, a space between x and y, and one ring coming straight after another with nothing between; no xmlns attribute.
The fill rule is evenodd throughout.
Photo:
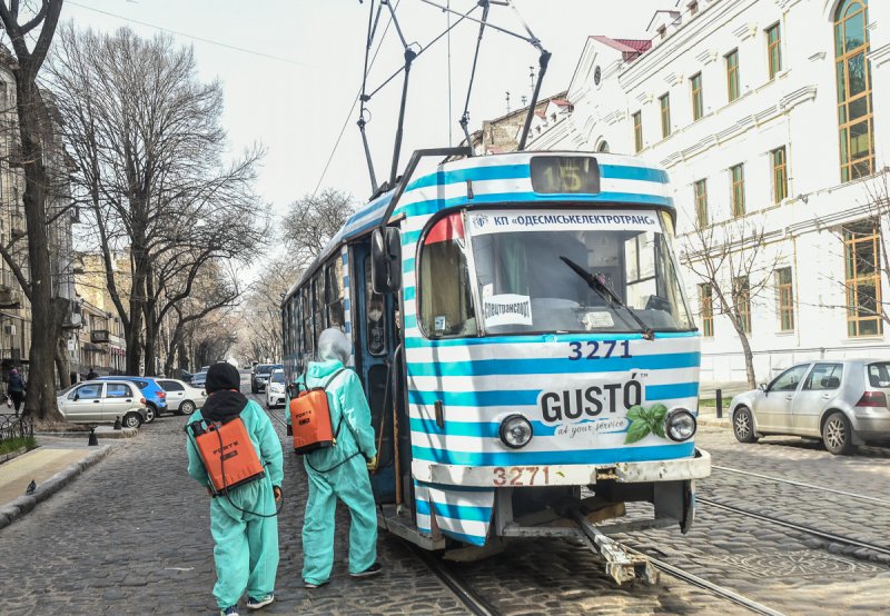
<svg viewBox="0 0 890 616"><path fill-rule="evenodd" d="M73 424L110 424L120 417L127 428L150 423L147 400L138 386L128 380L88 380L56 395L59 413Z"/></svg>

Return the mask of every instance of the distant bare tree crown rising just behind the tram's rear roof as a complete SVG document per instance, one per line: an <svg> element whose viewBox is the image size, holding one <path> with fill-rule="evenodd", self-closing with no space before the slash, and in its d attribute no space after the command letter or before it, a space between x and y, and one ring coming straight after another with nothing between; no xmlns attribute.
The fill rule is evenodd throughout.
<svg viewBox="0 0 890 616"><path fill-rule="evenodd" d="M354 212L353 197L334 188L290 203L284 221L290 259L300 270L308 266Z"/></svg>

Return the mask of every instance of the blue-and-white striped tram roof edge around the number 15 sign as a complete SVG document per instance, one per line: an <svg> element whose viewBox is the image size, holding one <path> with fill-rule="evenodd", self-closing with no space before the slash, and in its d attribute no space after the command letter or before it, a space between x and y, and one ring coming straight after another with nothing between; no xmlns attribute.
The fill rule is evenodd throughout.
<svg viewBox="0 0 890 616"><path fill-rule="evenodd" d="M591 156L600 163L600 192L537 195L531 190L530 160L536 156ZM452 185L473 182L473 198L466 192L449 198L446 190ZM325 246L322 254L306 268L297 282L288 289L284 301L290 299L296 289L308 280L318 266L327 261L343 244L369 232L380 223L386 206L395 189L368 202L340 227L337 235ZM451 191L454 192L454 191ZM668 190L668 172L662 168L626 155L578 151L522 151L491 156L476 156L441 162L432 173L421 176L408 183L398 207L389 221L400 216L411 216L424 203L425 212L438 211L456 205L468 208L487 207L494 203L541 205L542 202L619 202L622 205L660 206L673 208ZM412 209L409 209L412 208ZM418 212L414 212L418 213Z"/></svg>

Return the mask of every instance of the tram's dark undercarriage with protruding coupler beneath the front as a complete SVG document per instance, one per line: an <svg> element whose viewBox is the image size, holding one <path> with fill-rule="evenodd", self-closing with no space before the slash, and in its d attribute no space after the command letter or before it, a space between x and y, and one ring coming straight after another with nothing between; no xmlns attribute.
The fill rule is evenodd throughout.
<svg viewBox="0 0 890 616"><path fill-rule="evenodd" d="M403 505L382 505L377 517L382 528L424 549L442 550L449 560L486 558L520 538L562 537L584 543L603 560L605 572L617 584L636 580L654 584L657 570L649 559L610 535L674 525L685 534L694 518L694 479L708 476L710 466L710 455L696 449L691 459L597 466L590 475L593 483L585 486L495 487L484 546L451 540L439 529L435 515L431 516L431 533L422 533L414 523L412 508ZM435 476L436 469L431 470ZM465 469L466 475L473 470L476 469ZM675 478L681 474L690 478ZM622 519L627 513L626 503L651 504L652 517Z"/></svg>

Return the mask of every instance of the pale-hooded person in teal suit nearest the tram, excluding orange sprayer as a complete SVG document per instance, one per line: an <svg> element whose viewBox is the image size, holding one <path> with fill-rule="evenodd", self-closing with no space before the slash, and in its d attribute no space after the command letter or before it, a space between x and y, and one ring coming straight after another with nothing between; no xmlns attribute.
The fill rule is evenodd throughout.
<svg viewBox="0 0 890 616"><path fill-rule="evenodd" d="M327 390L330 425L336 433L336 445L304 456L309 476L309 499L303 523L303 579L307 588L323 586L330 578L337 498L352 516L349 575L367 577L382 570L377 563L377 514L367 469L377 447L362 384L353 370L344 369L349 347L349 340L339 329L324 330L318 338L319 360L310 361L303 377L309 389Z"/></svg>

